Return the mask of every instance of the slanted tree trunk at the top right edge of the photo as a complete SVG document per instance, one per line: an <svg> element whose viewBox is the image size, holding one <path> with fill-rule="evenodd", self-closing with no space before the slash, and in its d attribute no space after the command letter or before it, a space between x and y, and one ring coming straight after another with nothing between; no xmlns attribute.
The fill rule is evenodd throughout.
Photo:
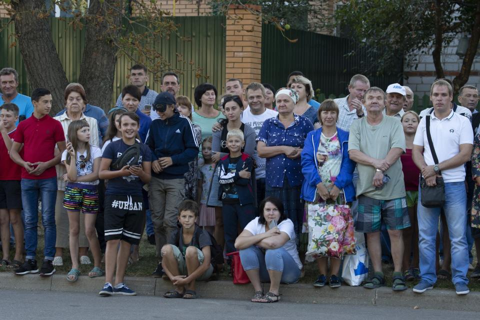
<svg viewBox="0 0 480 320"><path fill-rule="evenodd" d="M480 2L476 4L475 20L471 28L470 41L466 49L465 56L461 63L460 73L453 79L453 91L458 92L470 77L471 64L475 58L476 50L478 48L478 41L480 40Z"/></svg>

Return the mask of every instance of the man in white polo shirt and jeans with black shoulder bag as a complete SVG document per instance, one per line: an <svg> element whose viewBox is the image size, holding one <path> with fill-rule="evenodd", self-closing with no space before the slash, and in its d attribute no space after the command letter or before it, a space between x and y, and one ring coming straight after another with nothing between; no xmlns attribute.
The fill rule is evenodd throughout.
<svg viewBox="0 0 480 320"><path fill-rule="evenodd" d="M412 157L420 168L427 185L435 185L441 174L445 185L445 213L451 243L452 282L457 294L466 294L468 289L468 247L466 242L466 191L465 167L473 147L473 131L470 121L451 109L453 90L445 80L433 82L430 100L433 112L430 114L430 132L433 147L438 158L434 163L426 135L426 119L422 118L413 140ZM441 208L427 208L421 205L418 192L418 231L421 280L413 287L414 292L433 288L436 282L435 237Z"/></svg>

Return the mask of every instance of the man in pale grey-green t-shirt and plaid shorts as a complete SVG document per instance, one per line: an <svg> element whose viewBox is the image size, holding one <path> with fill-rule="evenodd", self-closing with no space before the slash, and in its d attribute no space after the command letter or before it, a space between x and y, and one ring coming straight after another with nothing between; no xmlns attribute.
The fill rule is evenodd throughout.
<svg viewBox="0 0 480 320"><path fill-rule="evenodd" d="M400 155L405 151L401 123L382 113L386 95L371 87L363 95L367 116L353 121L348 138L348 154L357 163L359 180L356 185L358 212L355 230L366 233L368 253L373 270L366 288L377 288L385 280L381 271L381 222L386 224L393 257L393 290L404 290L401 273L403 228L410 226L405 200L405 185Z"/></svg>

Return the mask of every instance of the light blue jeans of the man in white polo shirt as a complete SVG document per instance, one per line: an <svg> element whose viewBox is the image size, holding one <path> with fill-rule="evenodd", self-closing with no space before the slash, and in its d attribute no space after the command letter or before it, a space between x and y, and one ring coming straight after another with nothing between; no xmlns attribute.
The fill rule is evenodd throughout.
<svg viewBox="0 0 480 320"><path fill-rule="evenodd" d="M445 204L443 205L448 234L450 236L452 282L468 283L468 245L466 243L466 192L465 183L445 183ZM440 208L426 208L421 205L421 192L418 192L418 248L420 251L421 278L429 284L436 282L435 238L438 230Z"/></svg>

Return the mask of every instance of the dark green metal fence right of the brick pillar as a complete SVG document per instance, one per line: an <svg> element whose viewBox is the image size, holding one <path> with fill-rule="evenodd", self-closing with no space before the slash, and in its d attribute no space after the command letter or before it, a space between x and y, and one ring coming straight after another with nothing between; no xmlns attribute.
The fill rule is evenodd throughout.
<svg viewBox="0 0 480 320"><path fill-rule="evenodd" d="M319 88L326 96L347 94L350 77L356 73L365 74L371 85L381 88L401 83L401 57L389 75L373 74L371 57L377 48L367 50L351 39L294 29L284 31L290 39L298 39L291 43L272 24L263 24L261 31L261 79L275 88L285 86L286 77L293 70L302 71L313 88Z"/></svg>

